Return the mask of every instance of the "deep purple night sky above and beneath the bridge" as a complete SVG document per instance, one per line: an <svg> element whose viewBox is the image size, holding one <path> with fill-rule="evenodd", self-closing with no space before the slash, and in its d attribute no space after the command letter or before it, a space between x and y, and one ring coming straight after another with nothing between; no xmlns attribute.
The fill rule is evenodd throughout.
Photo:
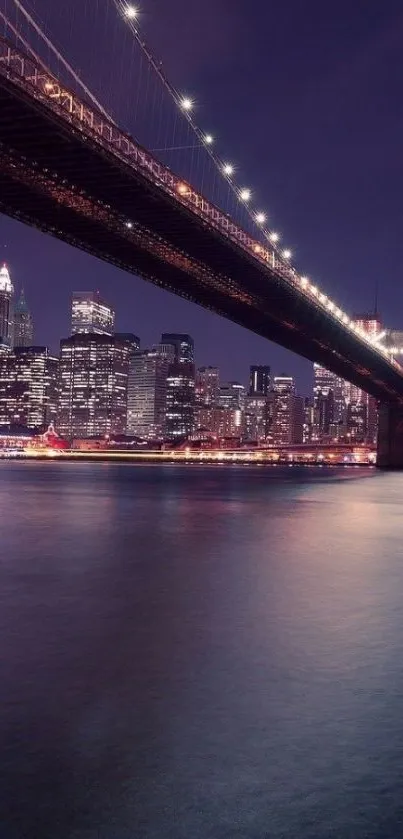
<svg viewBox="0 0 403 839"><path fill-rule="evenodd" d="M79 15L88 1L65 5ZM39 3L44 13L54 0ZM403 328L399 0L141 0L141 10L167 75L196 97L198 121L242 166L297 267L350 312L373 307L378 282L384 321ZM217 364L223 379L269 363L309 390L303 359L4 216L0 257L25 287L37 343L56 349L72 290L98 288L144 347L162 331L190 332L197 363Z"/></svg>

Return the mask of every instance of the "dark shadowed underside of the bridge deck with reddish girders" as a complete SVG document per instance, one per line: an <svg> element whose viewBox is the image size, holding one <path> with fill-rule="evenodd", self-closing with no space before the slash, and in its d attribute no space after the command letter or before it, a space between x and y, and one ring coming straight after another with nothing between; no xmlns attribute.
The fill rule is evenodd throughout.
<svg viewBox="0 0 403 839"><path fill-rule="evenodd" d="M3 76L0 114L0 211L321 363L380 401L403 398L402 376L379 353Z"/></svg>

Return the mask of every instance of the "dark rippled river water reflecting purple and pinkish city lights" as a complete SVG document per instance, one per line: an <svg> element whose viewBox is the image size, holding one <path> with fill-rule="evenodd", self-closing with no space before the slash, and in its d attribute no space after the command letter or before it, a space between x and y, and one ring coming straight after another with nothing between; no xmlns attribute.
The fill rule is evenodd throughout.
<svg viewBox="0 0 403 839"><path fill-rule="evenodd" d="M402 836L402 500L1 463L1 839Z"/></svg>

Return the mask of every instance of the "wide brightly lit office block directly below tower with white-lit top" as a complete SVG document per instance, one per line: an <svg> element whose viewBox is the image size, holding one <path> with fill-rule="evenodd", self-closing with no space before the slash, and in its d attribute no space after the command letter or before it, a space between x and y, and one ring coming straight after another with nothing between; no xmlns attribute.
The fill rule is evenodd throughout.
<svg viewBox="0 0 403 839"><path fill-rule="evenodd" d="M124 434L135 335L75 334L60 342L58 428L65 437Z"/></svg>

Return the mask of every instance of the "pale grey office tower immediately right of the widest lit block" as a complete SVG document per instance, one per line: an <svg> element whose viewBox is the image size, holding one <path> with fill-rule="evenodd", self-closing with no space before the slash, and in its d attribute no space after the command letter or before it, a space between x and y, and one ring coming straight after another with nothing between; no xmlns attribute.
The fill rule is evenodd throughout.
<svg viewBox="0 0 403 839"><path fill-rule="evenodd" d="M146 440L165 436L167 377L174 348L157 345L135 352L130 361L127 399L127 432Z"/></svg>

